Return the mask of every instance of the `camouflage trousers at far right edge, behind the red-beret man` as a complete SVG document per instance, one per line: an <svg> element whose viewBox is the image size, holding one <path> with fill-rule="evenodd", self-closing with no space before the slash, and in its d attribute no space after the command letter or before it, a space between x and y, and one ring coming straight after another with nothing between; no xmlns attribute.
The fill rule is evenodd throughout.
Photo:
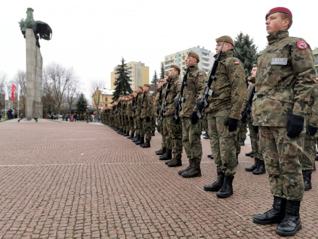
<svg viewBox="0 0 318 239"><path fill-rule="evenodd" d="M316 141L318 132L311 136L308 131L308 125L309 125L309 115L305 116L306 120L306 134L305 134L305 142L304 142L304 152L299 157L299 162L301 164L302 170L314 170L314 163L315 163L315 157L316 157Z"/></svg>

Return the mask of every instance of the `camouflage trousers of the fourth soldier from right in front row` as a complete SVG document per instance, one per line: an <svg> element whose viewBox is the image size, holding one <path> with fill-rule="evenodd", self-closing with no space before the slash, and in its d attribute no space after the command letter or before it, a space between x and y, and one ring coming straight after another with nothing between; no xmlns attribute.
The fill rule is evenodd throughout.
<svg viewBox="0 0 318 239"><path fill-rule="evenodd" d="M183 150L183 145L182 145L182 128L181 128L181 123L175 124L175 121L173 120L173 115L170 116L165 116L166 122L168 125L168 134L171 139L171 147L172 147L172 153L173 157L175 159L181 159L182 157L182 150Z"/></svg>

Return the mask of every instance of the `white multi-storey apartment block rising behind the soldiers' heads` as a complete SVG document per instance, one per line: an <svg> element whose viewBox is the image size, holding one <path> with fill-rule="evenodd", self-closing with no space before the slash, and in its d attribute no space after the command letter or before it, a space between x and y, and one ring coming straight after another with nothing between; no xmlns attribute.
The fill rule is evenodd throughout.
<svg viewBox="0 0 318 239"><path fill-rule="evenodd" d="M181 69L180 77L182 79L186 70L185 59L188 57L188 53L191 51L197 53L200 57L200 62L198 63L199 69L204 70L204 72L208 74L214 62L213 56L215 53L211 53L211 51L204 49L204 47L200 48L200 46L166 55L164 57L165 61L161 62L163 63L165 72L171 68L171 65L177 65Z"/></svg>

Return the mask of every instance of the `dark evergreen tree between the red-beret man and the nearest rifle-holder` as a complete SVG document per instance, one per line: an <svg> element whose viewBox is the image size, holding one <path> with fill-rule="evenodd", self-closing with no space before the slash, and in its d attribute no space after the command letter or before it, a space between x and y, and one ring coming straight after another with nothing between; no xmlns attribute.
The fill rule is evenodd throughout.
<svg viewBox="0 0 318 239"><path fill-rule="evenodd" d="M243 35L242 32L234 40L234 54L233 56L239 58L244 64L245 80L251 75L253 64L256 63L257 47L254 44L254 40L250 39L249 35Z"/></svg>

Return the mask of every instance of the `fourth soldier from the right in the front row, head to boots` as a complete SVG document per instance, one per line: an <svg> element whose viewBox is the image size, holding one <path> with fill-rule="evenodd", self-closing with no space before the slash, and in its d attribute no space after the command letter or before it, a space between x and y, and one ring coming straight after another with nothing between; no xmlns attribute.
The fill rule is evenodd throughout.
<svg viewBox="0 0 318 239"><path fill-rule="evenodd" d="M167 92L165 112L163 113L167 124L166 126L168 129L168 134L171 139L171 150L173 152L173 158L166 162L169 167L177 167L182 165L181 157L183 146L181 138L182 128L180 127L181 122L179 121L178 124L174 122L174 101L181 88L181 80L179 79L179 75L180 67L177 65L172 65L168 72L168 76L171 76L171 86L169 92Z"/></svg>

